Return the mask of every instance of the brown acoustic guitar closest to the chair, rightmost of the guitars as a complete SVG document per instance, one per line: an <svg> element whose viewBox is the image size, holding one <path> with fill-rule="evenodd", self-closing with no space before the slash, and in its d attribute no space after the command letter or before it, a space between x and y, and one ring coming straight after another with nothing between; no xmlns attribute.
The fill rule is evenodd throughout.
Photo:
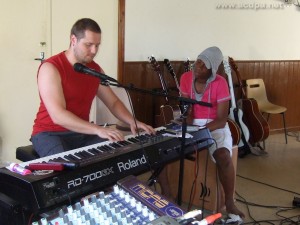
<svg viewBox="0 0 300 225"><path fill-rule="evenodd" d="M238 101L239 108L243 109L244 122L249 129L249 143L258 145L259 142L264 141L269 136L270 127L266 119L260 113L258 104L255 99L247 98L245 86L242 83L241 75L233 58L229 57L229 64L236 73L239 87L242 91L242 98Z"/></svg>

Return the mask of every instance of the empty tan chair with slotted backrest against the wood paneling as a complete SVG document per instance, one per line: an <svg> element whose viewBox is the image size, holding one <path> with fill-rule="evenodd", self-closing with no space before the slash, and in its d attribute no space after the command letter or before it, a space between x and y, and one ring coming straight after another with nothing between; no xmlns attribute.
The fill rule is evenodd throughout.
<svg viewBox="0 0 300 225"><path fill-rule="evenodd" d="M257 101L259 110L262 113L268 114L267 121L269 120L270 114L282 115L285 143L287 144L287 130L285 123L285 112L287 108L284 106L273 104L268 100L263 79L248 79L246 80L246 86L247 98L254 98Z"/></svg>

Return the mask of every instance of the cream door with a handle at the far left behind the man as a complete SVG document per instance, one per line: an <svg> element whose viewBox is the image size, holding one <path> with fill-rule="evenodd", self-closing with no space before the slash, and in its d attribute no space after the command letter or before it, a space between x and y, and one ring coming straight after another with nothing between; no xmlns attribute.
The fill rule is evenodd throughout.
<svg viewBox="0 0 300 225"><path fill-rule="evenodd" d="M36 70L45 41L47 2L1 0L0 137L3 160L15 158L17 146L29 143L38 95Z"/></svg>

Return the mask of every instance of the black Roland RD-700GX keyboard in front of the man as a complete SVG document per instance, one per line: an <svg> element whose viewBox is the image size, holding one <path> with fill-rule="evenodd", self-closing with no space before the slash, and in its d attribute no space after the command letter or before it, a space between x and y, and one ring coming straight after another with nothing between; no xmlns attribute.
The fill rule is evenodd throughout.
<svg viewBox="0 0 300 225"><path fill-rule="evenodd" d="M76 162L80 166L75 170L22 176L1 168L0 191L33 213L57 207L69 199L111 186L128 175L138 175L179 159L181 138L165 136L164 130L160 127L156 128L156 135L129 135L122 143L105 141L20 164L26 167L37 162ZM206 128L191 134L192 138L185 141L185 155L214 143Z"/></svg>

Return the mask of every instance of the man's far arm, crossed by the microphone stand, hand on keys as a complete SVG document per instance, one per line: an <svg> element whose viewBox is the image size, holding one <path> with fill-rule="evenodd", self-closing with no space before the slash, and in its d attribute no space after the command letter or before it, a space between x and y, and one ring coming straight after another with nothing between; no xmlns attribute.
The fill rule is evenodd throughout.
<svg viewBox="0 0 300 225"><path fill-rule="evenodd" d="M97 96L101 101L103 101L103 103L107 106L107 108L116 118L118 118L120 121L130 126L131 132L133 134L137 133L135 120L132 114L128 111L126 106L116 96L116 94L113 92L113 90L110 87L100 85L98 88ZM136 122L138 128L143 129L149 134L155 133L154 129L151 126L142 123L138 120Z"/></svg>

